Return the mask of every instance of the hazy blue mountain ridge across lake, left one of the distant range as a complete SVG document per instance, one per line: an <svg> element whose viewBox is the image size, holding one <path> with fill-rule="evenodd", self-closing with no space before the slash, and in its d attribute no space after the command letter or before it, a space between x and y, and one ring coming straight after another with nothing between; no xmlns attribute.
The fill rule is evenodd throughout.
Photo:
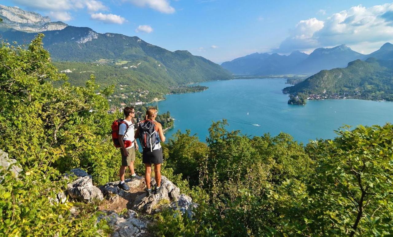
<svg viewBox="0 0 393 237"><path fill-rule="evenodd" d="M306 53L294 51L290 55L277 53L253 53L244 57L223 62L221 66L234 74L271 75L282 74L288 68L307 58Z"/></svg>

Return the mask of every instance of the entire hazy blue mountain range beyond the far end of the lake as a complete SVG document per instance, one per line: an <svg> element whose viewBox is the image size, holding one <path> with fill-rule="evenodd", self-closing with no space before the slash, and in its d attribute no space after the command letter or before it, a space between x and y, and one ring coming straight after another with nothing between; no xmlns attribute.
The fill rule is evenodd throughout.
<svg viewBox="0 0 393 237"><path fill-rule="evenodd" d="M260 55L260 57L256 57ZM248 75L278 75L278 74L308 74L320 70L343 68L348 62L363 59L365 55L340 45L334 48L317 48L310 55L295 51L288 56L277 53L253 53L221 64L235 74Z"/></svg>

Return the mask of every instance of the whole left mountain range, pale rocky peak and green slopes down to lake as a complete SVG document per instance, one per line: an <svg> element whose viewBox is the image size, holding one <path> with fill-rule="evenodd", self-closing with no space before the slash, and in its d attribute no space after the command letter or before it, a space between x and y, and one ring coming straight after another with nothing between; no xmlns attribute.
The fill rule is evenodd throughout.
<svg viewBox="0 0 393 237"><path fill-rule="evenodd" d="M129 73L125 75L127 77L132 75L134 79L142 82L137 84L143 85L148 78L149 80L154 78L157 87L232 78L230 73L220 65L185 50L169 51L149 44L139 37L116 33L101 34L86 27L50 22L48 17L23 11L18 7L0 7L0 17L4 20L0 24L2 39L28 44L37 32L42 32L45 35L44 48L51 53L53 61L58 61L56 64L60 67L62 63L59 61L99 62L99 65L111 66L112 72L117 71L117 68L127 67ZM51 24L59 29L41 30ZM119 61L121 63L118 63ZM136 66L137 64L141 66ZM86 68L86 65L81 64L79 68ZM71 68L66 69L72 71ZM69 71L65 70L65 72ZM74 77L72 73L68 73L68 76L70 79ZM96 77L100 76L96 75ZM107 81L106 78L100 79ZM126 82L126 79L123 80L123 83Z"/></svg>

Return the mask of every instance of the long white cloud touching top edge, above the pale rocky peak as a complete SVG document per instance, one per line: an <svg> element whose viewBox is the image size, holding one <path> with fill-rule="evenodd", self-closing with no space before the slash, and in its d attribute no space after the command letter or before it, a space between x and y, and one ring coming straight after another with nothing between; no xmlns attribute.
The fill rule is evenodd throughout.
<svg viewBox="0 0 393 237"><path fill-rule="evenodd" d="M51 11L67 11L83 9L88 11L107 11L108 7L97 0L13 0L17 4Z"/></svg>

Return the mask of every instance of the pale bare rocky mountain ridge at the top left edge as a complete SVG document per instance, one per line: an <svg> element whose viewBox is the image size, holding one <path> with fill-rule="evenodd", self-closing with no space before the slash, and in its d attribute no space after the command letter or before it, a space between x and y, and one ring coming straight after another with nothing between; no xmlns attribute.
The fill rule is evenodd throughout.
<svg viewBox="0 0 393 237"><path fill-rule="evenodd" d="M0 18L3 19L0 28L12 28L26 32L59 30L67 26L63 22L51 22L49 17L42 17L38 13L4 5L0 5Z"/></svg>

